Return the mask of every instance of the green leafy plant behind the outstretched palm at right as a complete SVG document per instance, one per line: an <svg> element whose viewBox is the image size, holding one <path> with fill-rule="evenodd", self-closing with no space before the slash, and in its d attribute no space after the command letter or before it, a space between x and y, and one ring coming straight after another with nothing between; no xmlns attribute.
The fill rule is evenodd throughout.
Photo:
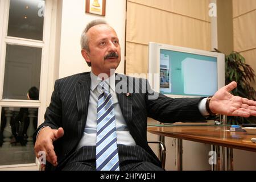
<svg viewBox="0 0 256 182"><path fill-rule="evenodd" d="M215 49L216 52L220 52ZM241 96L250 100L255 100L255 90L250 86L250 82L254 80L255 74L253 68L245 63L245 58L236 51L225 55L225 84L232 81L237 82L237 88L232 90L234 96ZM242 123L255 122L255 117L242 118L242 117L227 117L228 124L238 125Z"/></svg>

